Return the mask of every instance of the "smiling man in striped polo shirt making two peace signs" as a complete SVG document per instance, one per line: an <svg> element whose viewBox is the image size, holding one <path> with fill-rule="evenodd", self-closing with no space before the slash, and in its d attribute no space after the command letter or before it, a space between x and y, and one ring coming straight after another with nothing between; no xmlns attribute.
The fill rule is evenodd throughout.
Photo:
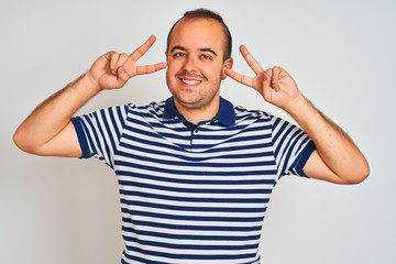
<svg viewBox="0 0 396 264"><path fill-rule="evenodd" d="M122 263L260 263L258 242L273 187L295 174L356 184L369 165L283 68L233 72L231 35L209 10L186 12L168 34L166 62L138 66L155 41L131 55L109 52L40 105L14 134L36 155L96 156L118 176L125 241ZM103 89L167 67L173 97L72 118ZM227 76L254 88L302 128L220 97Z"/></svg>

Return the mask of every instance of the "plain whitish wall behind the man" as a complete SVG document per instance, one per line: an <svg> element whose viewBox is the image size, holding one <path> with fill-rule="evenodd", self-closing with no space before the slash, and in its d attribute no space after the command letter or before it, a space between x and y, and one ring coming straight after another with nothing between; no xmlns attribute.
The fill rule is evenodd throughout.
<svg viewBox="0 0 396 264"><path fill-rule="evenodd" d="M234 69L252 75L245 44L263 67L280 65L339 123L371 164L361 185L287 177L263 228L265 264L396 263L396 2L393 0L0 1L0 263L119 263L117 180L102 163L22 153L12 134L53 92L110 50L165 59L166 35L184 11L220 12L234 40ZM80 112L166 99L165 72L102 92ZM222 96L287 114L231 79Z"/></svg>

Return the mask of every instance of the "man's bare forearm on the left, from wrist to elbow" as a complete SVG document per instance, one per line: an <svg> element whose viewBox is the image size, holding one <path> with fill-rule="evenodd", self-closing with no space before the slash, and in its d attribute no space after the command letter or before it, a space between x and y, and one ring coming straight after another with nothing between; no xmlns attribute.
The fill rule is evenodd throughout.
<svg viewBox="0 0 396 264"><path fill-rule="evenodd" d="M23 151L41 154L41 148L58 135L73 114L99 92L85 74L42 102L18 128L15 144Z"/></svg>

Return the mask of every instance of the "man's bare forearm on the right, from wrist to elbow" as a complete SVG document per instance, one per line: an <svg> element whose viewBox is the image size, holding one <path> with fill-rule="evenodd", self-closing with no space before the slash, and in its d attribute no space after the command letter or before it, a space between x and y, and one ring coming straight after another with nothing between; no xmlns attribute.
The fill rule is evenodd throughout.
<svg viewBox="0 0 396 264"><path fill-rule="evenodd" d="M286 111L307 132L337 183L360 183L369 164L351 138L300 95Z"/></svg>

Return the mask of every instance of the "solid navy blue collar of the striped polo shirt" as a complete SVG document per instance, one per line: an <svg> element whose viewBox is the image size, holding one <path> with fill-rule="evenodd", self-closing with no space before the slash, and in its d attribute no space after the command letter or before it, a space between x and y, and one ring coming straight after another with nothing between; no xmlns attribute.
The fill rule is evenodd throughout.
<svg viewBox="0 0 396 264"><path fill-rule="evenodd" d="M169 97L165 101L164 118L174 119L178 116L182 116L175 106L174 97ZM182 116L183 117L183 116ZM224 125L234 125L235 124L235 112L232 103L220 97L220 108L217 116L211 120L212 122L219 121Z"/></svg>

